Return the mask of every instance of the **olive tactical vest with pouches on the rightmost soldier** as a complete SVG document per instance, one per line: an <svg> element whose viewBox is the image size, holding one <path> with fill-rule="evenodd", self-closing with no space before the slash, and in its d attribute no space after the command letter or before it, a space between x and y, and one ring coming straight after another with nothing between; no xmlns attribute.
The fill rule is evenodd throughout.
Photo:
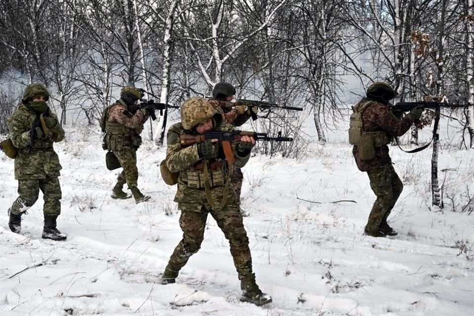
<svg viewBox="0 0 474 316"><path fill-rule="evenodd" d="M391 137L385 131L367 132L363 130L362 113L375 101L368 100L352 107L353 113L349 121L349 143L357 146L359 158L362 160L375 157L375 148L391 142Z"/></svg>

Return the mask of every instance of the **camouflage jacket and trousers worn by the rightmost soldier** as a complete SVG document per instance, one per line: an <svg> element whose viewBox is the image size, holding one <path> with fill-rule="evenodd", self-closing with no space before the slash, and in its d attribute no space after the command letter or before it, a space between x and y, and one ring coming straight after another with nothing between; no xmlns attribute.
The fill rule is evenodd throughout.
<svg viewBox="0 0 474 316"><path fill-rule="evenodd" d="M380 140L374 142L375 156L371 159L361 159L358 146L353 148L357 168L367 172L370 187L377 196L366 226L366 232L376 232L381 223L386 224L403 190L403 184L392 166L387 144L393 136L406 133L415 119L410 114L402 119L396 118L387 105L367 98L357 103L354 110L362 112L362 131L371 132Z"/></svg>

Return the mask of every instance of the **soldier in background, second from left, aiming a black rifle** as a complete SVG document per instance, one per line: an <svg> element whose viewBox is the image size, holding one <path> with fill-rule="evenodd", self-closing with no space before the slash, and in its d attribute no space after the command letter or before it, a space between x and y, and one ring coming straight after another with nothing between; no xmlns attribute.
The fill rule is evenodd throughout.
<svg viewBox="0 0 474 316"><path fill-rule="evenodd" d="M114 153L123 170L112 189L112 198L131 197L123 192L126 183L135 198L135 203L148 201L151 197L143 195L138 189L137 149L142 143L140 133L149 118L147 109L138 109L137 103L143 97L143 90L132 85L120 91L120 99L104 111L106 116L104 148Z"/></svg>

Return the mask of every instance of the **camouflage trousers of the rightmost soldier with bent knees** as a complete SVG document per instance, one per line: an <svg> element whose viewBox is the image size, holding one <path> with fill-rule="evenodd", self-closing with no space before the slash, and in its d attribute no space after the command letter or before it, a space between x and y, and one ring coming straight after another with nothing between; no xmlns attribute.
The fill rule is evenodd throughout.
<svg viewBox="0 0 474 316"><path fill-rule="evenodd" d="M366 228L378 230L382 220L387 220L396 200L403 190L403 183L395 172L394 166L388 164L367 171L370 188L377 196L369 214Z"/></svg>

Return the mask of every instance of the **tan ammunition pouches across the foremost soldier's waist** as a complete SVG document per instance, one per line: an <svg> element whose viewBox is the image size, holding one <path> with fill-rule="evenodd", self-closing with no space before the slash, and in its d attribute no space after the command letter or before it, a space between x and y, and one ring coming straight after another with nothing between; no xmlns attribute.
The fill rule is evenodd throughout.
<svg viewBox="0 0 474 316"><path fill-rule="evenodd" d="M210 188L222 187L225 185L228 175L227 163L218 160L208 164L209 186ZM186 169L180 173L180 179L186 182L188 188L204 189L205 174L204 162Z"/></svg>

